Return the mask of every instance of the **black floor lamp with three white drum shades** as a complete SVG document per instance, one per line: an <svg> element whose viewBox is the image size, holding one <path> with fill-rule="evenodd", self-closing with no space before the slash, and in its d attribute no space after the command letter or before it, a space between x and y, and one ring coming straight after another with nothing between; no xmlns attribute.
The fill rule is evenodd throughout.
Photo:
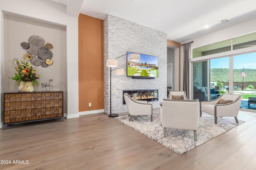
<svg viewBox="0 0 256 170"><path fill-rule="evenodd" d="M124 54L127 55L127 54ZM121 55L120 57L124 56ZM137 53L131 53L128 54L130 57L130 61L140 61L140 54ZM120 58L117 57L116 59ZM111 105L111 74L112 71L116 70L116 75L124 75L124 68L115 68L112 70L112 67L117 67L117 60L116 59L107 59L107 67L110 67L110 114L108 115L108 117L118 117L118 114L113 113L112 114L112 105Z"/></svg>

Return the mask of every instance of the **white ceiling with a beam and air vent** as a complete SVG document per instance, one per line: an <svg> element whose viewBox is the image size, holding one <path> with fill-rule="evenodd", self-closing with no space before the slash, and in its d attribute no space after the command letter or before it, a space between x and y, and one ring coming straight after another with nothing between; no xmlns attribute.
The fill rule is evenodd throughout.
<svg viewBox="0 0 256 170"><path fill-rule="evenodd" d="M101 20L107 14L117 16L162 31L180 43L256 18L256 0L82 0L80 4L81 14ZM224 19L229 21L217 23Z"/></svg>

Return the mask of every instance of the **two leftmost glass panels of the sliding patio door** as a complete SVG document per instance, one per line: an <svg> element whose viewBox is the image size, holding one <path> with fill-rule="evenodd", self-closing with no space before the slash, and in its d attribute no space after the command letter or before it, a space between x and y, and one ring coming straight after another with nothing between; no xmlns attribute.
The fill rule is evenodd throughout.
<svg viewBox="0 0 256 170"><path fill-rule="evenodd" d="M209 63L209 66L208 66ZM229 57L193 63L193 99L214 100L229 92Z"/></svg>

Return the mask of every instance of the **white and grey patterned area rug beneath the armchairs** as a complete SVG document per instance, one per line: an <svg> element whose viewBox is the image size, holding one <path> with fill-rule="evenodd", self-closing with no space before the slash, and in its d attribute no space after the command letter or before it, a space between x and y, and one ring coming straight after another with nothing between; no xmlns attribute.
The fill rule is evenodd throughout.
<svg viewBox="0 0 256 170"><path fill-rule="evenodd" d="M166 137L164 137L164 128L160 123L160 110L153 111L153 121L150 121L149 115L133 116L131 121L128 115L115 118L178 154L184 154L244 123L241 120L236 123L235 119L230 117L218 117L218 124L215 124L214 116L202 113L197 130L198 141L194 141L194 131L189 130L166 128Z"/></svg>

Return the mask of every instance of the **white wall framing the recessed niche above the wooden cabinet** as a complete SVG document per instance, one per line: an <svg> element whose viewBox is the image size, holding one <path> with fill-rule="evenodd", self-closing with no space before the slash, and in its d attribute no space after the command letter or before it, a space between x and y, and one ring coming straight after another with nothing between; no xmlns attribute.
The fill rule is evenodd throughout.
<svg viewBox="0 0 256 170"><path fill-rule="evenodd" d="M32 18L37 21L61 25L66 27L66 54L67 59L67 118L79 117L78 114L78 18L66 14L66 6L46 0L8 0L0 1L0 10L4 14L18 15L24 18ZM0 16L1 35L3 35L3 14ZM0 51L4 54L4 37L1 36ZM1 69L3 59L0 60ZM0 87L3 93L4 72L1 71ZM1 110L2 110L1 106Z"/></svg>

